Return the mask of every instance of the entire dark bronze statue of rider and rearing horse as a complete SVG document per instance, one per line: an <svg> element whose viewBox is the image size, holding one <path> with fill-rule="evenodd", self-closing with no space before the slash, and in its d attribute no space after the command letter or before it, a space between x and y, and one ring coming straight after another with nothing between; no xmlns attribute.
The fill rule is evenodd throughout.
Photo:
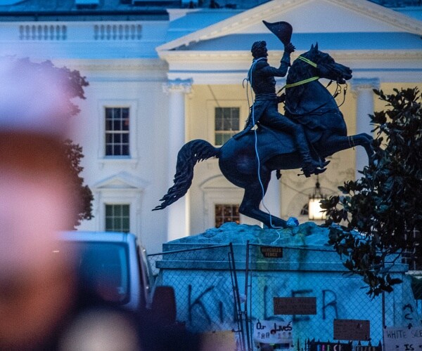
<svg viewBox="0 0 422 351"><path fill-rule="evenodd" d="M222 147L200 139L181 147L174 185L153 211L169 206L186 194L198 161L217 157L226 179L245 190L239 212L267 227L284 228L290 223L260 210L272 171L301 168L306 177L319 174L326 170L329 162L326 157L358 145L364 147L371 161L373 138L366 133L347 136L335 95L319 82L324 78L329 79L330 84L331 81L346 84L352 78L352 70L319 51L318 44L312 44L310 50L299 55L290 66L290 53L295 50L290 43L291 25L263 22L284 44L284 53L280 67L271 67L267 63L265 41L252 45L253 60L247 80L255 93L255 101L245 128ZM274 77L284 77L287 70L286 93L277 95ZM278 112L279 102L285 103L285 115Z"/></svg>

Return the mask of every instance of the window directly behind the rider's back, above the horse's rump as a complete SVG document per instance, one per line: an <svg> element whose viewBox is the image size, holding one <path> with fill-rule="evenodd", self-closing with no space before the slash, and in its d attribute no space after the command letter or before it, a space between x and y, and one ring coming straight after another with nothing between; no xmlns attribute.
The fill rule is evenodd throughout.
<svg viewBox="0 0 422 351"><path fill-rule="evenodd" d="M240 107L215 107L215 145L223 145L239 131Z"/></svg>

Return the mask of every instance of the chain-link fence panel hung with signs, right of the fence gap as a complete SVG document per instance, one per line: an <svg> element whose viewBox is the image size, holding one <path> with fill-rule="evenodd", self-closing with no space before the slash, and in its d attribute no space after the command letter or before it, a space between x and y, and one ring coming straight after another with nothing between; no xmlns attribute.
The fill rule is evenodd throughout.
<svg viewBox="0 0 422 351"><path fill-rule="evenodd" d="M273 340L275 348L296 350L307 349L306 340L381 345L384 326L421 325L409 277L404 274L406 265L396 264L390 270L403 284L392 293L371 298L362 277L348 273L331 247L248 243L247 256L244 310L249 350L259 348L260 339L262 343Z"/></svg>

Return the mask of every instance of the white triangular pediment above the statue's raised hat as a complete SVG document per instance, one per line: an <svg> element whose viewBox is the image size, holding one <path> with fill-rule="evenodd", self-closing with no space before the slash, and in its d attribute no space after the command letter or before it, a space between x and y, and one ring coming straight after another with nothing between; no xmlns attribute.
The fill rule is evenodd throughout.
<svg viewBox="0 0 422 351"><path fill-rule="evenodd" d="M191 13L198 18L207 13ZM296 34L405 32L422 34L422 22L367 0L272 0L158 46L158 53L234 34L269 34L262 20L285 20ZM270 33L271 34L271 33Z"/></svg>

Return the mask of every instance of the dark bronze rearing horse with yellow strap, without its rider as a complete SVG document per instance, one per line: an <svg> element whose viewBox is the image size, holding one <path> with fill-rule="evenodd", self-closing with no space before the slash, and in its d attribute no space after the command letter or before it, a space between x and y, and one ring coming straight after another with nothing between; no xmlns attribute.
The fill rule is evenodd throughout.
<svg viewBox="0 0 422 351"><path fill-rule="evenodd" d="M286 116L305 126L311 150L321 160L360 145L371 161L373 138L366 133L347 136L343 114L333 95L319 82L320 78L345 84L352 78L352 70L336 63L328 53L319 51L316 44L300 55L289 69ZM239 212L267 227L287 227L286 220L261 211L260 203L272 171L302 167L294 145L288 133L270 130L259 122L256 130L241 138L235 135L222 147L214 147L205 140L191 140L179 150L174 185L160 199L162 204L153 211L169 206L186 194L192 183L193 167L198 161L217 157L227 180L245 190Z"/></svg>

